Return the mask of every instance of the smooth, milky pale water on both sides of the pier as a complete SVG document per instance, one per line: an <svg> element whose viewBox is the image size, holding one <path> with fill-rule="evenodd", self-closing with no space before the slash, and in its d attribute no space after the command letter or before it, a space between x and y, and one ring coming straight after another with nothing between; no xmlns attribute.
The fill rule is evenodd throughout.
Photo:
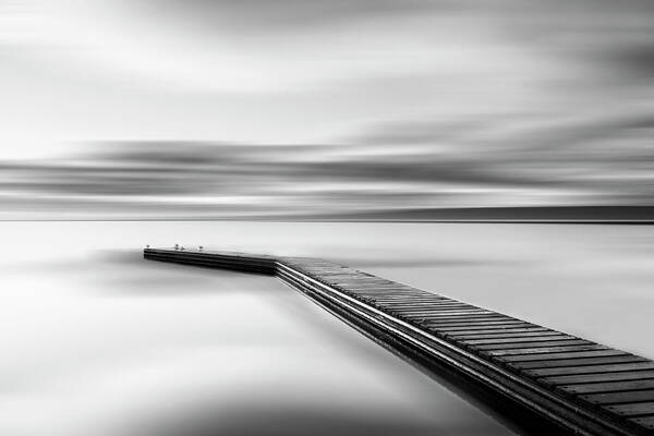
<svg viewBox="0 0 654 436"><path fill-rule="evenodd" d="M3 222L0 434L505 435L278 281L141 259L330 258L649 358L654 227Z"/></svg>

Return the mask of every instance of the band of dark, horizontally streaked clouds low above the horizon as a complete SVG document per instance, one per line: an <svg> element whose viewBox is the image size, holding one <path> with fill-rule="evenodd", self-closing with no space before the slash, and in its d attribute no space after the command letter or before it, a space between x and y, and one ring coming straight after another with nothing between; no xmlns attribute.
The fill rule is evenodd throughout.
<svg viewBox="0 0 654 436"><path fill-rule="evenodd" d="M649 112L620 111L382 125L373 141L342 145L102 143L58 160L5 161L0 193L5 216L397 218L428 208L646 206L651 124Z"/></svg>

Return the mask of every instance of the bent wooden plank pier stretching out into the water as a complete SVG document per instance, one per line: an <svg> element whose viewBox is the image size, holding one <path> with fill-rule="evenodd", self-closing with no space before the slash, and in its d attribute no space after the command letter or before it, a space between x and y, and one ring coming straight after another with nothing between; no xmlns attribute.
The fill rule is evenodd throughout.
<svg viewBox="0 0 654 436"><path fill-rule="evenodd" d="M322 259L174 249L144 256L277 276L386 347L558 434L654 435L651 360Z"/></svg>

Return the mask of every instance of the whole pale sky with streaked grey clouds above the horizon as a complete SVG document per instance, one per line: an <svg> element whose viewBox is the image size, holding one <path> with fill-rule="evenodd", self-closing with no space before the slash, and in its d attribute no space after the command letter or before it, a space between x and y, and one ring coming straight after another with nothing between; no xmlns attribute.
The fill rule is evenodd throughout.
<svg viewBox="0 0 654 436"><path fill-rule="evenodd" d="M4 0L0 96L0 218L653 204L647 0Z"/></svg>

